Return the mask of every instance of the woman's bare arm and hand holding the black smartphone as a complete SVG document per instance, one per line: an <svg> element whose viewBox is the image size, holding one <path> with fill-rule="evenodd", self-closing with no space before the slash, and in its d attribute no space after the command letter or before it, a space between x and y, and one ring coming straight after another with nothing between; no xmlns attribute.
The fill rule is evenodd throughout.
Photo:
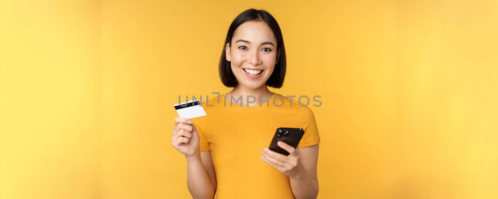
<svg viewBox="0 0 498 199"><path fill-rule="evenodd" d="M279 141L278 146L290 154L284 156L263 148L261 160L271 165L282 174L289 176L292 194L296 199L316 199L318 195L318 145L294 149Z"/></svg>

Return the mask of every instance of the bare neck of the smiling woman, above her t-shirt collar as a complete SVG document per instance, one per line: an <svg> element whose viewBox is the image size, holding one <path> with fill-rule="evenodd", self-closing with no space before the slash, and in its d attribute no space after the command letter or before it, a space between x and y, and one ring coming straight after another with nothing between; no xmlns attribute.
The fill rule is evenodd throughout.
<svg viewBox="0 0 498 199"><path fill-rule="evenodd" d="M252 102L254 101L254 98L249 97L249 100L251 101L249 103L249 106L256 106L259 105L260 98L261 100L267 100L271 98L272 95L273 92L268 90L268 87L266 87L266 85L263 85L257 89L249 89L247 87L241 86L240 84L237 85L237 87L235 87L232 91L226 94L228 100L231 100L232 97L235 100L239 100L239 98L242 96L242 100L239 100L237 102L233 100L233 103L240 106L248 106L247 105L248 96L253 96L255 98L255 102Z"/></svg>

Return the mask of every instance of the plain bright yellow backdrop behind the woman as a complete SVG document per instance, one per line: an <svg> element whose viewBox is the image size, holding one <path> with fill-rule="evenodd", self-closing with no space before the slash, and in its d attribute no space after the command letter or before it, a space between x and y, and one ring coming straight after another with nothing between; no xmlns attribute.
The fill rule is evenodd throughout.
<svg viewBox="0 0 498 199"><path fill-rule="evenodd" d="M0 0L0 198L190 198L172 104L230 91L252 7L284 36L272 91L322 96L318 198L498 198L497 0Z"/></svg>

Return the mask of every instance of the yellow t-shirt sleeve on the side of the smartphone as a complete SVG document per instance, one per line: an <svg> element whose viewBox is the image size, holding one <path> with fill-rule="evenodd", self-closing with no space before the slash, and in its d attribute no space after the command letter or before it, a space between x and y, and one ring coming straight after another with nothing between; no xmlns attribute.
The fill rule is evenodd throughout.
<svg viewBox="0 0 498 199"><path fill-rule="evenodd" d="M320 143L320 135L318 135L315 115L308 106L303 106L301 126L304 128L304 135L297 147L303 148Z"/></svg>

